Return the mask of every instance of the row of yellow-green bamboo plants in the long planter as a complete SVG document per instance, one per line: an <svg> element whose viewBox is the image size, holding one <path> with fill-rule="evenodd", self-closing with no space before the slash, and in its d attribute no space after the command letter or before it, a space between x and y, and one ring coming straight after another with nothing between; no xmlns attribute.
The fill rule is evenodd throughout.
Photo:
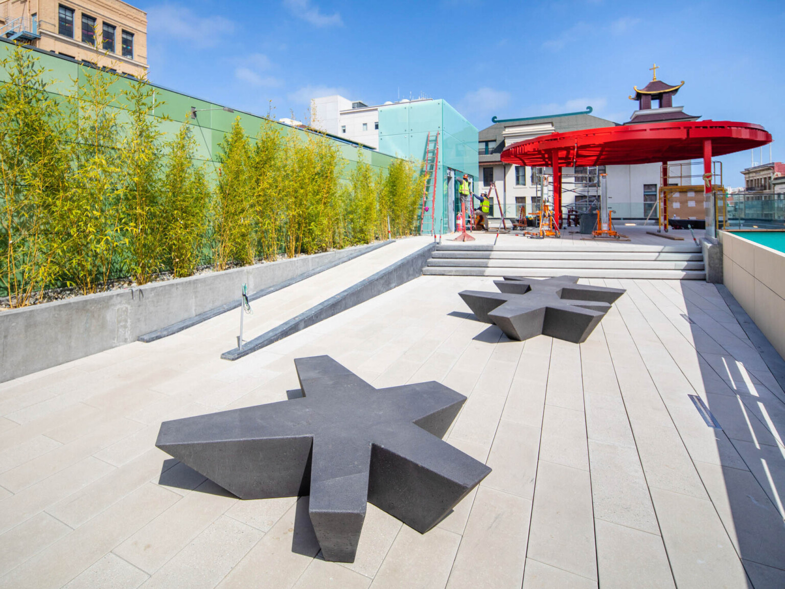
<svg viewBox="0 0 785 589"><path fill-rule="evenodd" d="M0 61L0 295L27 305L47 287L83 293L130 276L312 254L415 232L422 177L403 160L388 170L346 162L322 134L240 120L219 144L221 163L194 164L187 120L162 141L155 93L144 80L81 68L63 99L17 46ZM118 92L121 85L125 89ZM117 98L122 100L122 104Z"/></svg>

